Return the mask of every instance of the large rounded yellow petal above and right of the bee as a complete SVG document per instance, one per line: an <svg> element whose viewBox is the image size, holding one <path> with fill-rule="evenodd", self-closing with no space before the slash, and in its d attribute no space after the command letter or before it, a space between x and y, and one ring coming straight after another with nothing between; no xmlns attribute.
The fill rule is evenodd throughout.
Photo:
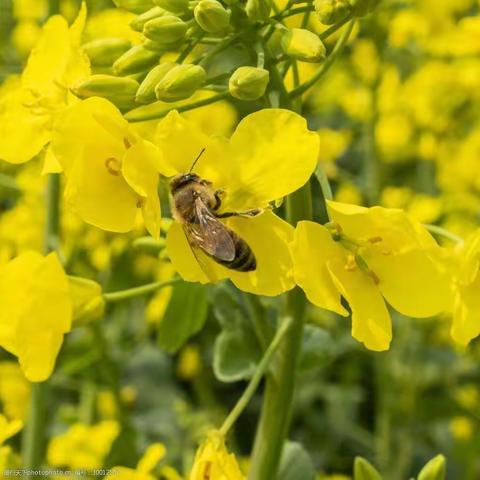
<svg viewBox="0 0 480 480"><path fill-rule="evenodd" d="M230 139L225 209L265 206L297 190L313 173L318 151L318 135L300 115L281 109L248 115Z"/></svg>

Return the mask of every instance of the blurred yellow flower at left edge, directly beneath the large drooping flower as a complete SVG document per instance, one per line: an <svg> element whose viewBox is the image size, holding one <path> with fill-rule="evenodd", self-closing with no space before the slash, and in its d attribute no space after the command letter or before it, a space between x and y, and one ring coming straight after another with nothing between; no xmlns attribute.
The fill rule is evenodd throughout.
<svg viewBox="0 0 480 480"><path fill-rule="evenodd" d="M8 418L24 420L30 401L30 384L16 362L0 362L0 402Z"/></svg>

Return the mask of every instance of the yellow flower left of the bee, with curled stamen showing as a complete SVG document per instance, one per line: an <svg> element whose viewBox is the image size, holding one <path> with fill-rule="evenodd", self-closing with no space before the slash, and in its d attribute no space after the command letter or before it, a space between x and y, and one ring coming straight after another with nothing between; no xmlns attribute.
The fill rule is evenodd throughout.
<svg viewBox="0 0 480 480"><path fill-rule="evenodd" d="M148 231L158 237L157 172L170 171L113 104L92 97L65 109L55 122L52 150L67 177L66 201L85 222L127 232L141 209Z"/></svg>

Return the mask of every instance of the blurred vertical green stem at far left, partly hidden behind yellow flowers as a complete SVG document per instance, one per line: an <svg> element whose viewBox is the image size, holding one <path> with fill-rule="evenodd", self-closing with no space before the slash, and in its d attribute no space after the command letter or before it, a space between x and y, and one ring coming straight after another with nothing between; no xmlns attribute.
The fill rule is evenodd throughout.
<svg viewBox="0 0 480 480"><path fill-rule="evenodd" d="M58 174L50 174L46 187L45 253L51 252L58 246L60 229L59 196L60 176ZM26 470L38 470L42 465L45 445L47 396L47 382L32 384L30 407L22 438L22 462Z"/></svg>

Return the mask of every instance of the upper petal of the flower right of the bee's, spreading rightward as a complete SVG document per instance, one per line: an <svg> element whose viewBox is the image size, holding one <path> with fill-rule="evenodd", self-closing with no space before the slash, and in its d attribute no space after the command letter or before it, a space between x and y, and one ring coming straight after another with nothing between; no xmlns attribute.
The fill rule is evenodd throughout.
<svg viewBox="0 0 480 480"><path fill-rule="evenodd" d="M338 223L347 236L357 241L381 240L372 248L390 253L412 248L438 248L428 231L402 210L364 208L332 201L327 205L332 221Z"/></svg>

